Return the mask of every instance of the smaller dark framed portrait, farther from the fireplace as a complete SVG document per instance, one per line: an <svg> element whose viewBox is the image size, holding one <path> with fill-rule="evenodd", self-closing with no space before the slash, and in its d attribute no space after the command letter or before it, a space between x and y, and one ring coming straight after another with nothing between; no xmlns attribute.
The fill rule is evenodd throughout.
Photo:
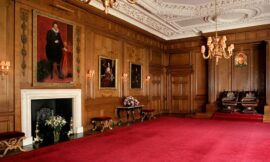
<svg viewBox="0 0 270 162"><path fill-rule="evenodd" d="M142 65L130 63L130 88L142 88Z"/></svg>

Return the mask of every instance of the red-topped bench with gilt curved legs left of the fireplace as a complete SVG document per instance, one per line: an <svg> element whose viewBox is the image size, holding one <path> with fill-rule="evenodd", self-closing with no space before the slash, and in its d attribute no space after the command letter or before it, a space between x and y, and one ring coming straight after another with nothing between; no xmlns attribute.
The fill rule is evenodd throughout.
<svg viewBox="0 0 270 162"><path fill-rule="evenodd" d="M13 131L0 133L0 148L4 149L0 157L5 156L9 150L20 149L21 151L26 151L21 147L23 139L23 132Z"/></svg>

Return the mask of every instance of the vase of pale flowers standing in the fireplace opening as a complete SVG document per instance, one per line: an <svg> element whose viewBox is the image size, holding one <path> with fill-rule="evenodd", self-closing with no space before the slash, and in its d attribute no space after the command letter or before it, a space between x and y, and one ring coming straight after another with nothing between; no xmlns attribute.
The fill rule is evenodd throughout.
<svg viewBox="0 0 270 162"><path fill-rule="evenodd" d="M53 128L54 142L58 142L60 138L60 132L67 121L61 116L51 116L46 120L45 125Z"/></svg>

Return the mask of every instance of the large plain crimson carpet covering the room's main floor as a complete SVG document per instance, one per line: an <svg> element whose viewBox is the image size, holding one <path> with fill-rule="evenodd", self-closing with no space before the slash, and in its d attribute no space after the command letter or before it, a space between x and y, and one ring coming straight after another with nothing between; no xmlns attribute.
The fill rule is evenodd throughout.
<svg viewBox="0 0 270 162"><path fill-rule="evenodd" d="M161 117L1 162L270 161L270 124Z"/></svg>

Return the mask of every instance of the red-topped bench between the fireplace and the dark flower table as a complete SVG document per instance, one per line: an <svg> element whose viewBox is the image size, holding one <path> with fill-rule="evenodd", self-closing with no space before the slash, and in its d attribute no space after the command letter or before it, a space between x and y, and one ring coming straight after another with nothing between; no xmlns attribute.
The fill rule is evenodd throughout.
<svg viewBox="0 0 270 162"><path fill-rule="evenodd" d="M98 128L100 128L101 132L103 132L105 128L112 129L112 118L108 116L93 117L91 118L91 123L93 124L92 131L96 131Z"/></svg>

